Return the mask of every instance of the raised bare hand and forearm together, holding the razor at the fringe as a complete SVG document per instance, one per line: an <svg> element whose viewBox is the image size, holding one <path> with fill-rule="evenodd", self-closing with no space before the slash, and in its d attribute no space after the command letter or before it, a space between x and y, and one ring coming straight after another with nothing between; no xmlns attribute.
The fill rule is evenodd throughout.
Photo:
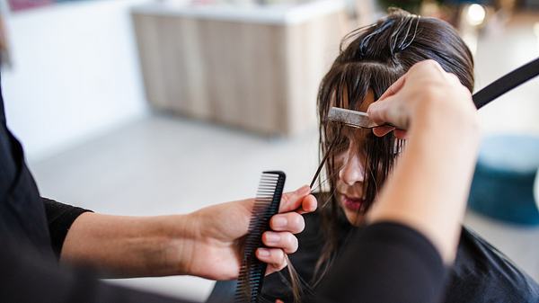
<svg viewBox="0 0 539 303"><path fill-rule="evenodd" d="M411 227L437 247L445 263L452 263L480 137L470 92L436 62L423 61L367 112L376 123L406 129L409 137L367 222ZM387 130L374 131L384 135Z"/></svg>

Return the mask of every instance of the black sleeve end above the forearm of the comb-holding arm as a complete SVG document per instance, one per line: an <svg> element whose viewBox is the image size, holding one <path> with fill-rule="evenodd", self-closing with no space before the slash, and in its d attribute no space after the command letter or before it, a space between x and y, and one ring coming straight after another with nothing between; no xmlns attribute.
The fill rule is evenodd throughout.
<svg viewBox="0 0 539 303"><path fill-rule="evenodd" d="M47 198L41 198L41 201L43 201L45 212L47 213L50 243L54 254L59 258L67 231L69 231L69 228L78 216L90 210L59 203Z"/></svg>

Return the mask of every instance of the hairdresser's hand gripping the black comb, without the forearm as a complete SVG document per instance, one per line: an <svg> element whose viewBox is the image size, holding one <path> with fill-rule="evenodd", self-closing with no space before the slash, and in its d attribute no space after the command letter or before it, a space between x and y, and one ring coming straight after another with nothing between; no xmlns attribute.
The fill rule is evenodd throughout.
<svg viewBox="0 0 539 303"><path fill-rule="evenodd" d="M187 256L185 272L213 280L237 278L242 260L241 243L247 235L252 215L254 199L234 201L210 206L188 216L186 234L191 235L190 250ZM296 192L287 192L281 199L279 213L270 219L271 231L262 235L264 245L259 248L257 257L268 263L268 271L276 272L287 266L285 254L297 250L294 234L305 227L300 215L316 209L316 199L310 194L308 186Z"/></svg>

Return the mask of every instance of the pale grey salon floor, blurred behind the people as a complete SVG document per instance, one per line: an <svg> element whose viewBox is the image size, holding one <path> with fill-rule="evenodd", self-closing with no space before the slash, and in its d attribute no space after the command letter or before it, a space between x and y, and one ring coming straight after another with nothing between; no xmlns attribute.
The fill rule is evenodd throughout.
<svg viewBox="0 0 539 303"><path fill-rule="evenodd" d="M539 55L533 22L486 32L477 41L477 87ZM538 28L539 25L536 26ZM539 31L539 30L535 30ZM539 80L485 107L485 136L539 136ZM317 133L261 138L176 117L151 115L102 138L31 163L43 195L95 211L122 215L184 213L253 196L262 170L287 172L287 189L308 183L317 165ZM507 225L468 213L465 223L539 280L539 228ZM112 281L203 300L213 281L191 277Z"/></svg>

